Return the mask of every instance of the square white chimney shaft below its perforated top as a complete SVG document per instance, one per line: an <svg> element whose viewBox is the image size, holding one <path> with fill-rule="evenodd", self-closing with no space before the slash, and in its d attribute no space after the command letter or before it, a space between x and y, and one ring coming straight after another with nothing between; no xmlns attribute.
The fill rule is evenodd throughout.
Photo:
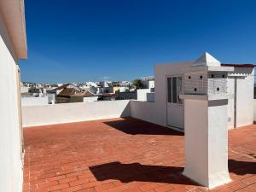
<svg viewBox="0 0 256 192"><path fill-rule="evenodd" d="M181 97L185 109L183 175L209 189L229 183L227 96Z"/></svg>

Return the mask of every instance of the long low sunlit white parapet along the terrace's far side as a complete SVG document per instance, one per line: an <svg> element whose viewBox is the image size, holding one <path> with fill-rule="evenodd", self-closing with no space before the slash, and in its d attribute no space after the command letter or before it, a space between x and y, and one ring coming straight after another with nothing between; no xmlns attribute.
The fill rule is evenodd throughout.
<svg viewBox="0 0 256 192"><path fill-rule="evenodd" d="M24 126L130 116L130 101L76 102L22 107Z"/></svg>

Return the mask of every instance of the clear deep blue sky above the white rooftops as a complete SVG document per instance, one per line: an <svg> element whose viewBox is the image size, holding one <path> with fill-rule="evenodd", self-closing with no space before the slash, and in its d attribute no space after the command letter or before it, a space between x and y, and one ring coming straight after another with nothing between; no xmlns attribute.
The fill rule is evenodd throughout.
<svg viewBox="0 0 256 192"><path fill-rule="evenodd" d="M25 0L28 59L21 80L132 80L154 64L256 63L256 1Z"/></svg>

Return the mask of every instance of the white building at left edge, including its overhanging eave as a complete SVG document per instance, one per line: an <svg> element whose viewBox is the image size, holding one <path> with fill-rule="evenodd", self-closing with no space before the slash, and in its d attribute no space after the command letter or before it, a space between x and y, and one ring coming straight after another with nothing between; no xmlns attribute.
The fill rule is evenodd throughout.
<svg viewBox="0 0 256 192"><path fill-rule="evenodd" d="M21 192L23 145L19 59L26 59L23 0L0 1L0 191Z"/></svg>

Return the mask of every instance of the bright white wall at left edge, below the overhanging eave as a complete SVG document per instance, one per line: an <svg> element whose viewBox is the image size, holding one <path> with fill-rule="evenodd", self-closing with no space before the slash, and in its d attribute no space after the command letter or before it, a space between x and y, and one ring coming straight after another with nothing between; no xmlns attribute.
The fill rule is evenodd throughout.
<svg viewBox="0 0 256 192"><path fill-rule="evenodd" d="M0 15L0 191L22 191L22 162L15 52Z"/></svg>

